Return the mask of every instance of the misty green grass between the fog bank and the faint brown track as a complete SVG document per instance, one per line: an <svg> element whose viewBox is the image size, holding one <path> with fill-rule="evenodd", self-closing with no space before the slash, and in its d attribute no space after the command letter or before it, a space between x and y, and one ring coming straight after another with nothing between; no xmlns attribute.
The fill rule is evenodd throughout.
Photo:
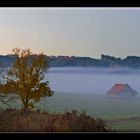
<svg viewBox="0 0 140 140"><path fill-rule="evenodd" d="M140 115L139 97L136 99L117 100L104 96L56 93L55 96L44 99L43 103L38 105L52 112L63 112L66 108L68 110L86 110L91 116L105 119Z"/></svg>

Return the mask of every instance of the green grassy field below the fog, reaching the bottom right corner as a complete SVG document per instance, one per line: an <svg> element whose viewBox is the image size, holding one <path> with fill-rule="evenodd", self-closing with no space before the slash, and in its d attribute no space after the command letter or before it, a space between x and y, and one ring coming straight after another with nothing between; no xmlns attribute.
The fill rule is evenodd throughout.
<svg viewBox="0 0 140 140"><path fill-rule="evenodd" d="M12 107L19 108L19 102ZM53 97L44 98L37 108L50 113L86 111L92 117L106 120L108 127L113 130L140 132L140 97L110 99L99 95L57 92Z"/></svg>

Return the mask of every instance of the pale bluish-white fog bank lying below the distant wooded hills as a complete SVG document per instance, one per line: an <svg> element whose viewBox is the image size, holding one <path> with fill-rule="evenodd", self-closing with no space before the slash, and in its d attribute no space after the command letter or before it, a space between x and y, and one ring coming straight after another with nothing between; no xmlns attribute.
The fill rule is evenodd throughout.
<svg viewBox="0 0 140 140"><path fill-rule="evenodd" d="M140 93L140 70L130 68L57 67L46 74L55 92L106 95L116 83L129 84Z"/></svg>

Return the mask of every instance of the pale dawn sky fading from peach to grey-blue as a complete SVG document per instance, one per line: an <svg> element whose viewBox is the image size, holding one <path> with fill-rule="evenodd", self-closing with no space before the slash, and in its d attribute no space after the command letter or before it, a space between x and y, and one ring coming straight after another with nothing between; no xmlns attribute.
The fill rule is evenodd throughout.
<svg viewBox="0 0 140 140"><path fill-rule="evenodd" d="M0 54L140 56L140 8L0 8Z"/></svg>

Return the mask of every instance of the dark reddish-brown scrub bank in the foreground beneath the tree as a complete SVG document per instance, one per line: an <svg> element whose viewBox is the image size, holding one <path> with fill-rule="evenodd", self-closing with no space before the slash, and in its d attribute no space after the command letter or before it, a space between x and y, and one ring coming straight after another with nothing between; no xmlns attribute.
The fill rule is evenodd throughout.
<svg viewBox="0 0 140 140"><path fill-rule="evenodd" d="M61 114L5 109L0 111L0 132L107 132L105 121L75 110Z"/></svg>

